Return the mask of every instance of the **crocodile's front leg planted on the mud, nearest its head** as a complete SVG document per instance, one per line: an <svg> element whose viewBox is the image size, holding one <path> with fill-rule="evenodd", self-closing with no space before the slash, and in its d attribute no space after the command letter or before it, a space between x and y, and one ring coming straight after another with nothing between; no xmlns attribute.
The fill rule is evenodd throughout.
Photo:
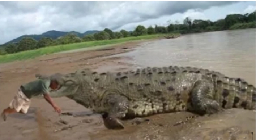
<svg viewBox="0 0 256 140"><path fill-rule="evenodd" d="M121 95L107 95L103 99L103 105L107 111L103 113L104 125L109 129L123 129L124 125L120 119L125 117L128 111L128 99Z"/></svg>

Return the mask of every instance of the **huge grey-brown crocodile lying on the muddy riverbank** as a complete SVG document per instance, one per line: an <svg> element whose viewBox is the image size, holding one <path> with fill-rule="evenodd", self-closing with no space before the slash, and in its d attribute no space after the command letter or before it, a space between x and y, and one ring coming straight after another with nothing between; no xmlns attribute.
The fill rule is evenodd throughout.
<svg viewBox="0 0 256 140"><path fill-rule="evenodd" d="M61 87L51 97L66 96L101 113L109 129L123 129L121 120L159 113L190 111L199 115L223 109L255 110L255 87L242 78L195 67L145 67L135 71L37 74Z"/></svg>

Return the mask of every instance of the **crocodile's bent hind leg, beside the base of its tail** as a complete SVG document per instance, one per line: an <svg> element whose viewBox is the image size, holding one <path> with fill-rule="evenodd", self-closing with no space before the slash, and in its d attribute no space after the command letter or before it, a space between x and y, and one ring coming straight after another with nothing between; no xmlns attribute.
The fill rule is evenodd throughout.
<svg viewBox="0 0 256 140"><path fill-rule="evenodd" d="M212 82L206 79L197 81L191 93L193 112L200 115L218 112L220 105L213 99L213 93L214 87Z"/></svg>

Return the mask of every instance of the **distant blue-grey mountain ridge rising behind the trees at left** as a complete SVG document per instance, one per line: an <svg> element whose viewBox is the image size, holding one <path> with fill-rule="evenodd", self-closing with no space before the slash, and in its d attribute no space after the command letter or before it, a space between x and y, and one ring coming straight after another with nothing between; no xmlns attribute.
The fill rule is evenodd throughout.
<svg viewBox="0 0 256 140"><path fill-rule="evenodd" d="M76 31L63 32L63 31L51 30L51 31L47 31L45 33L42 33L40 35L23 35L23 36L17 37L16 39L8 41L8 42L6 42L6 43L4 43L2 45L8 44L8 43L19 42L23 37L32 37L33 39L38 41L38 40L42 39L43 37L50 37L52 39L57 39L58 37L65 36L68 33L73 33L73 34L75 34L75 35L77 35L79 37L84 37L85 35L94 34L94 33L97 33L97 32L99 32L99 31L97 31L97 30L90 30L90 31L86 31L84 33L80 33L80 32L76 32Z"/></svg>

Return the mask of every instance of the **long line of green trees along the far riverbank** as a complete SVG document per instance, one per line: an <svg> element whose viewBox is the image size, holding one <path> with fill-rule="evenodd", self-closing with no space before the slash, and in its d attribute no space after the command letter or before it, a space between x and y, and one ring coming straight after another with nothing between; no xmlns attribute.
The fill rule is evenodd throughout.
<svg viewBox="0 0 256 140"><path fill-rule="evenodd" d="M129 36L142 36L142 35L153 35L153 34L165 34L165 33L199 33L208 31L222 31L222 30L235 30L244 28L255 28L255 11L247 14L229 14L225 19L219 19L218 21L212 22L210 20L195 19L191 20L189 17L185 18L183 23L175 21L175 23L169 23L168 26L145 26L138 25L134 31L128 32L126 30L120 30L119 32L113 32L108 28L103 31L85 35L80 38L74 34L68 34L61 36L58 39L51 39L50 37L43 37L39 41L31 38L24 37L19 42L9 43L0 50L0 54L11 54L25 50L33 50L43 48L46 46L64 45L86 41L97 41L97 40L111 40L120 39Z"/></svg>

